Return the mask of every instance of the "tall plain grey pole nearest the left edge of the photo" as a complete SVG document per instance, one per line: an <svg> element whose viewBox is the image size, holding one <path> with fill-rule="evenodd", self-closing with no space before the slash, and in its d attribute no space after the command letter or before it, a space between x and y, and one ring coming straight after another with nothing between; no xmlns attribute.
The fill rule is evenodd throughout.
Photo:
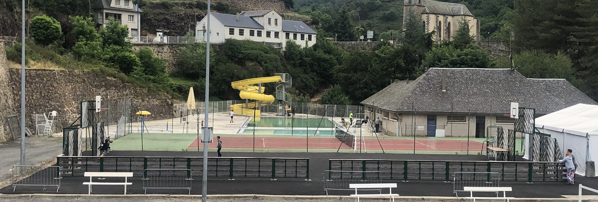
<svg viewBox="0 0 598 202"><path fill-rule="evenodd" d="M25 0L21 5L21 166L25 166Z"/></svg>

